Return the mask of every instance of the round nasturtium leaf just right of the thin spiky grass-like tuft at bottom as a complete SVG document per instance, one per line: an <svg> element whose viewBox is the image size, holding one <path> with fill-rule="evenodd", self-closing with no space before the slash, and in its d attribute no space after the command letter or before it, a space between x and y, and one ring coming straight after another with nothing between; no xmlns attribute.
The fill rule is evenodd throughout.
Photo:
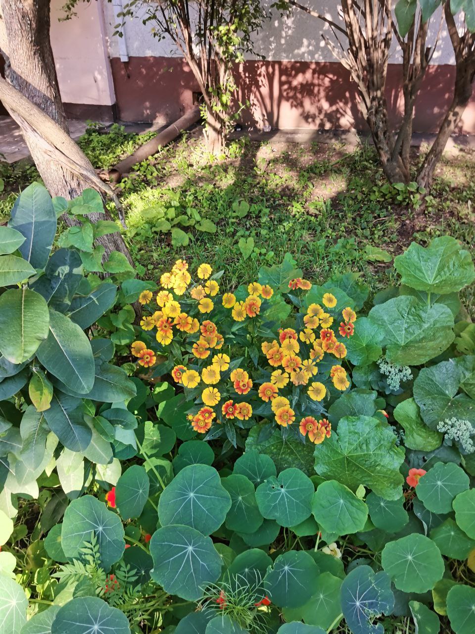
<svg viewBox="0 0 475 634"><path fill-rule="evenodd" d="M266 574L264 586L279 607L300 607L314 593L314 579L319 574L317 564L303 550L289 550L279 555Z"/></svg>

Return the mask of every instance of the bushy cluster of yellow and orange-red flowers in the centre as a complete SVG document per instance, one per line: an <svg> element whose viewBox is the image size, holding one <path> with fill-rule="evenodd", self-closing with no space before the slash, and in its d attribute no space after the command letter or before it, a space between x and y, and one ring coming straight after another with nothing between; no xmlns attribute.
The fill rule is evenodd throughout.
<svg viewBox="0 0 475 634"><path fill-rule="evenodd" d="M329 390L350 387L343 363L355 311L344 304L339 308L331 292L315 294L319 287L310 295L312 284L303 278L289 280L284 292L260 281L222 292L219 274L212 273L209 264L201 264L193 280L187 263L179 260L160 278L155 299L144 291L139 299L148 309L141 320L144 341L134 342L131 353L146 368L155 365L158 354L174 363L175 383L189 401L196 399L188 415L196 432L225 421L249 427L258 415L281 427L298 419L301 436L322 443L331 424L320 403ZM298 313L284 299L293 292ZM156 343L148 342L151 330Z"/></svg>

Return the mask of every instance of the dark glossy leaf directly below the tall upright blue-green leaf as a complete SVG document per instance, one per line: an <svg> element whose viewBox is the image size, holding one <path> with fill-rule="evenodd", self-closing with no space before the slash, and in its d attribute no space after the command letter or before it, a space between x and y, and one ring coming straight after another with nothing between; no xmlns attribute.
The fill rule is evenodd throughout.
<svg viewBox="0 0 475 634"><path fill-rule="evenodd" d="M44 275L31 288L46 299L49 306L65 313L82 280L82 261L77 251L58 249L49 258Z"/></svg>

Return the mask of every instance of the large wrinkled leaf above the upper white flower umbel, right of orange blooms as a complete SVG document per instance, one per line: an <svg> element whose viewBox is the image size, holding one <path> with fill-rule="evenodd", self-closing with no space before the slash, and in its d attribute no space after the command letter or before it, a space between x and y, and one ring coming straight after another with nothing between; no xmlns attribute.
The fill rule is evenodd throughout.
<svg viewBox="0 0 475 634"><path fill-rule="evenodd" d="M402 295L374 306L369 318L384 332L381 344L386 357L396 365L421 365L450 346L453 314L443 304L421 304Z"/></svg>

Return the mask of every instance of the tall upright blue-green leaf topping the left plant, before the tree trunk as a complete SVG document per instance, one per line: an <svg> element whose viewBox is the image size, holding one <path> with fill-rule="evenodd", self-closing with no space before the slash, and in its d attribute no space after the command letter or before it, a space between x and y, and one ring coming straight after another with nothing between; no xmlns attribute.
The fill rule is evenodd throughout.
<svg viewBox="0 0 475 634"><path fill-rule="evenodd" d="M44 269L56 235L56 213L44 185L30 184L16 198L8 226L25 236L20 253L35 269Z"/></svg>

